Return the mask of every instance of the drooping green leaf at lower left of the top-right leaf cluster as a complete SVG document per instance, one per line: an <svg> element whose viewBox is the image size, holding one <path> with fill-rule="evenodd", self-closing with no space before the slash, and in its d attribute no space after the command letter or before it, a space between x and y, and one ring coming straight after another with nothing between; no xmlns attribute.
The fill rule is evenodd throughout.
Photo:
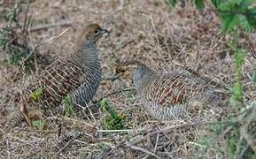
<svg viewBox="0 0 256 159"><path fill-rule="evenodd" d="M222 16L222 19L223 24L221 30L223 34L227 34L229 31L234 30L239 22L239 17L237 15L225 14Z"/></svg>

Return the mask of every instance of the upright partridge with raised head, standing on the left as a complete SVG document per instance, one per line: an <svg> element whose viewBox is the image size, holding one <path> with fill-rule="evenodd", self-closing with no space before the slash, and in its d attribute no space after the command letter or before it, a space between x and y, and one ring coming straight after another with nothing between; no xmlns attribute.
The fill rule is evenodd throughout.
<svg viewBox="0 0 256 159"><path fill-rule="evenodd" d="M97 24L85 27L75 49L47 66L20 91L18 111L12 113L8 125L19 125L25 119L32 127L30 112L56 108L67 95L75 106L85 106L96 94L101 80L97 41L103 34L110 32Z"/></svg>

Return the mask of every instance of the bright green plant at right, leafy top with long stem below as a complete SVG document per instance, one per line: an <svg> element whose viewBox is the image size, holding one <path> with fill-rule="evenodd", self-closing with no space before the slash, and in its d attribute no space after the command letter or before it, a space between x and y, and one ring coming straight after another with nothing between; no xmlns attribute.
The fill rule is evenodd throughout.
<svg viewBox="0 0 256 159"><path fill-rule="evenodd" d="M213 0L215 8L219 12L222 19L222 34L231 34L232 42L229 48L235 53L237 83L231 90L231 103L241 105L243 103L243 86L241 82L242 68L246 50L238 48L238 39L240 32L250 32L252 28L256 28L256 7L252 0Z"/></svg>

